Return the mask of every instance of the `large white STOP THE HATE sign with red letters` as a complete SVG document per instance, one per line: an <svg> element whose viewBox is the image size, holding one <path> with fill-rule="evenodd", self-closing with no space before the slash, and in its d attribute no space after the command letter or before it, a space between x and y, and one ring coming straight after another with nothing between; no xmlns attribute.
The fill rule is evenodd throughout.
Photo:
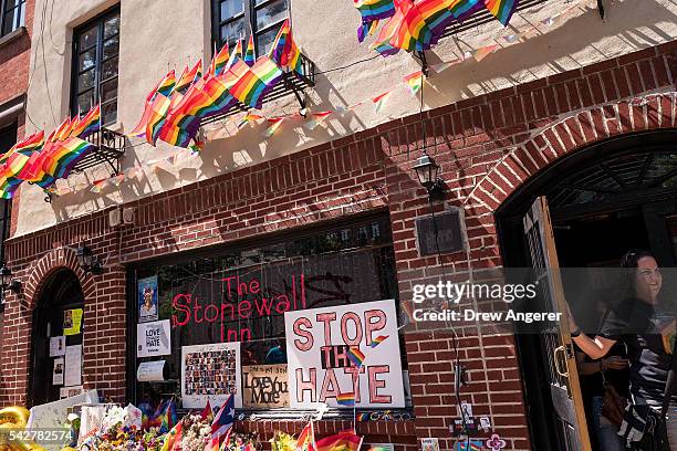
<svg viewBox="0 0 677 451"><path fill-rule="evenodd" d="M394 300L288 312L284 325L291 407L405 407Z"/></svg>

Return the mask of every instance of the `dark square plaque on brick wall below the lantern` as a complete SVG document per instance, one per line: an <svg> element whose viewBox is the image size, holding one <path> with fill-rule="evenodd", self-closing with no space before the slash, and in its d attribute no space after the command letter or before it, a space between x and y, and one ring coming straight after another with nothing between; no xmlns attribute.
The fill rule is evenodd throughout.
<svg viewBox="0 0 677 451"><path fill-rule="evenodd" d="M416 219L416 234L421 256L464 250L461 217L457 209Z"/></svg>

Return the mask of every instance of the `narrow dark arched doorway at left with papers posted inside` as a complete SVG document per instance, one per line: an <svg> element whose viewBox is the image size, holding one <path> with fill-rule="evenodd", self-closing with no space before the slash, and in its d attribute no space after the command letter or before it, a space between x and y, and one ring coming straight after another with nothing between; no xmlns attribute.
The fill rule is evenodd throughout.
<svg viewBox="0 0 677 451"><path fill-rule="evenodd" d="M82 352L83 308L84 294L75 273L65 268L54 271L45 281L33 311L30 406L60 399L61 388L72 380L66 376L65 366L72 369L73 365L81 365L82 355L70 358L74 354L70 353L69 357L65 354L69 349Z"/></svg>

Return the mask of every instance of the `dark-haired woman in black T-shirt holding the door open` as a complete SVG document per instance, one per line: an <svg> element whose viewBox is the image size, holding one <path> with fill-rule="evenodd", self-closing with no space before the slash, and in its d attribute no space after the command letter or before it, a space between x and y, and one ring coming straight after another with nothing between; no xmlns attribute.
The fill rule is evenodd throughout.
<svg viewBox="0 0 677 451"><path fill-rule="evenodd" d="M675 319L658 305L663 275L653 254L628 252L621 266L628 271L628 295L613 308L594 338L581 334L571 312L569 321L575 344L592 359L604 357L616 342L625 343L631 364L631 402L643 418L648 409L660 412L668 373L673 364ZM670 449L677 450L677 394L673 391L666 422ZM629 428L622 427L628 430ZM632 424L631 424L632 426ZM655 437L660 432L656 431ZM628 440L632 438L628 437ZM633 440L634 441L634 440ZM628 443L629 444L629 443ZM664 448L663 448L664 449Z"/></svg>

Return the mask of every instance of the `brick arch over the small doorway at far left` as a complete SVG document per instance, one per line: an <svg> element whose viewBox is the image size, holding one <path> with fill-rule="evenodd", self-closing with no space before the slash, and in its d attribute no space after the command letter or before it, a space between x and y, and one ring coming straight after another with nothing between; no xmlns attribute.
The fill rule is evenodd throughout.
<svg viewBox="0 0 677 451"><path fill-rule="evenodd" d="M86 277L84 271L77 264L75 251L71 248L61 248L50 251L40 260L37 260L30 271L30 276L25 283L24 302L28 311L32 312L40 298L42 287L56 270L69 269L75 273L80 281L85 302L94 297L95 286L92 277Z"/></svg>

